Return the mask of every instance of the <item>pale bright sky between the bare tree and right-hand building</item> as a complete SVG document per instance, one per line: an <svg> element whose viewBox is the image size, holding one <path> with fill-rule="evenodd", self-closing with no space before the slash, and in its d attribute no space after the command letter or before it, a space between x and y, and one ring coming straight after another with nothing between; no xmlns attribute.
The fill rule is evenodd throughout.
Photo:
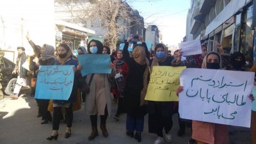
<svg viewBox="0 0 256 144"><path fill-rule="evenodd" d="M157 25L164 44L178 46L186 36L190 0L133 0L127 3L140 12L146 25Z"/></svg>

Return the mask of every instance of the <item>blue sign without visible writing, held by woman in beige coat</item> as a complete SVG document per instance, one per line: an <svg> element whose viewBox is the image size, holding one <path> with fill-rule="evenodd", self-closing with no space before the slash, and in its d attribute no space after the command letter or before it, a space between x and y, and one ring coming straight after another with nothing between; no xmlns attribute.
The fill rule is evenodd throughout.
<svg viewBox="0 0 256 144"><path fill-rule="evenodd" d="M77 55L77 59L82 66L82 76L90 73L111 73L111 60L108 54Z"/></svg>

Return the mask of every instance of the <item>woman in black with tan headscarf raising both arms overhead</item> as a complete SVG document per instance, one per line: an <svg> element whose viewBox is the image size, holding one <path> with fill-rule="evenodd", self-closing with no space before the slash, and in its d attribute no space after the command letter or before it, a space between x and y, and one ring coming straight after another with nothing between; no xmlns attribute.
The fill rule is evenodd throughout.
<svg viewBox="0 0 256 144"><path fill-rule="evenodd" d="M146 114L144 99L148 85L149 52L145 41L140 37L142 44L134 47L131 53L132 57L129 57L128 45L132 38L129 36L123 50L125 62L129 67L124 91L124 108L127 112L126 134L133 137L134 130L136 130L134 138L140 142Z"/></svg>

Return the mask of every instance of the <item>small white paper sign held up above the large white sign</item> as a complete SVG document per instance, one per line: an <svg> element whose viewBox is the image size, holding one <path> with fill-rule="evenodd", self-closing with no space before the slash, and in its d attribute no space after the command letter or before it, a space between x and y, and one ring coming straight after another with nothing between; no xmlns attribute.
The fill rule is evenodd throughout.
<svg viewBox="0 0 256 144"><path fill-rule="evenodd" d="M202 54L200 40L179 43L179 47L181 48L182 56Z"/></svg>

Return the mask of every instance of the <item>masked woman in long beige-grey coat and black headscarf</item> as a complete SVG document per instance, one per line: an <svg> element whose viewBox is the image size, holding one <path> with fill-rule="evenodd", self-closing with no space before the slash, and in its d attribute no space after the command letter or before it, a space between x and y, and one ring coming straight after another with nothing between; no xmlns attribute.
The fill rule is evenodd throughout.
<svg viewBox="0 0 256 144"><path fill-rule="evenodd" d="M98 40L91 40L88 43L89 54L102 54L103 45ZM110 68L114 68L113 64ZM79 65L78 69L82 69ZM102 135L108 137L108 131L106 129L106 120L108 115L111 115L111 76L114 75L115 71L109 74L98 74L93 73L86 76L86 82L91 83L90 92L86 93L85 110L90 114L90 120L92 124L92 133L88 137L88 140L93 140L98 136L97 129L97 115L100 115L100 129ZM91 82L90 82L91 81Z"/></svg>

